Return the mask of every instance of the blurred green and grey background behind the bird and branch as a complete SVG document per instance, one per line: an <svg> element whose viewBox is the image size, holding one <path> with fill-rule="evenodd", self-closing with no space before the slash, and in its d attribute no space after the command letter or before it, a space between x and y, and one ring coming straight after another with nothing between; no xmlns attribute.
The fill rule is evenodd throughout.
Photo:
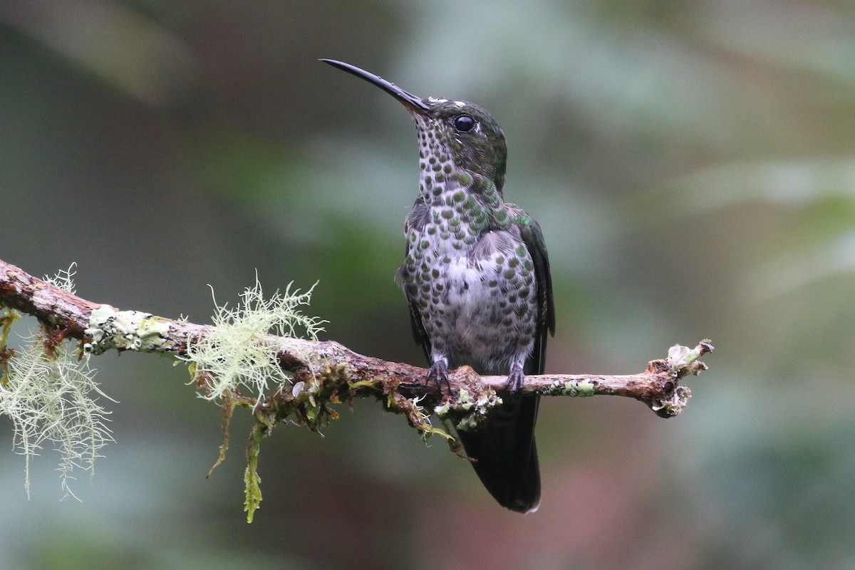
<svg viewBox="0 0 855 570"><path fill-rule="evenodd" d="M633 373L712 338L675 420L557 398L543 502L499 508L380 405L280 426L242 513L249 421L168 358L97 358L116 443L60 501L56 457L0 460L0 567L855 567L851 2L0 2L0 258L207 322L320 280L324 338L421 364L392 276L416 134L351 62L490 109L505 197L540 220L551 372Z"/></svg>

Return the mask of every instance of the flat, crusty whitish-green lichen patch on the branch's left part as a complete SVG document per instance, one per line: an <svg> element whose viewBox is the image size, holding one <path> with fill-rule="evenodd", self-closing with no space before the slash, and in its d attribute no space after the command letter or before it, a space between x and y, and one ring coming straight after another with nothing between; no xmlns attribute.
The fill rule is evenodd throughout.
<svg viewBox="0 0 855 570"><path fill-rule="evenodd" d="M91 312L85 332L92 340L83 345L83 350L93 355L110 349L160 352L174 347L168 320L143 311L120 311L107 304Z"/></svg>

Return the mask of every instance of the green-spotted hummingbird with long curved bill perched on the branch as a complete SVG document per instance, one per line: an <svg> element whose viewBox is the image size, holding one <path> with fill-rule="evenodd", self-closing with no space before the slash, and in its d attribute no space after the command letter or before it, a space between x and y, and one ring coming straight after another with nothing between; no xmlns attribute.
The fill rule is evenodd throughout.
<svg viewBox="0 0 855 570"><path fill-rule="evenodd" d="M448 370L464 364L507 374L509 395L483 425L458 427L457 435L492 497L532 512L540 504L540 397L518 392L526 374L543 373L555 310L543 232L504 201L504 132L475 103L417 97L349 63L321 62L380 87L416 122L419 193L404 222L397 274L413 335L430 362L428 379L440 388L449 385Z"/></svg>

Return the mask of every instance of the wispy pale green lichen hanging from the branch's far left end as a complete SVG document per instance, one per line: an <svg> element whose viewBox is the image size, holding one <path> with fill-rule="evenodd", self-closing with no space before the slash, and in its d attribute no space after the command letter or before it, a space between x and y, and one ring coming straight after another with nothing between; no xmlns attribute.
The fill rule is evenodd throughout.
<svg viewBox="0 0 855 570"><path fill-rule="evenodd" d="M47 279L74 291L72 271ZM113 438L106 426L108 412L97 403L107 397L94 381L88 357L80 358L73 344L46 340L49 333L25 338L27 343L7 361L0 384L0 414L9 416L15 452L24 455L24 487L30 494L30 460L52 446L60 452L57 471L65 496L74 497L69 482L75 467L94 473L95 460ZM0 350L5 350L5 335ZM109 399L109 397L108 397ZM76 498L76 497L75 497Z"/></svg>

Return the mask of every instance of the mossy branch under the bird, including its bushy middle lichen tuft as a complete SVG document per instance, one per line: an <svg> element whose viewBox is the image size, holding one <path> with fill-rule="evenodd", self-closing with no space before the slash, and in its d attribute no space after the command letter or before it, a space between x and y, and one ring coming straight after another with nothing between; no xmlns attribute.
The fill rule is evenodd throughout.
<svg viewBox="0 0 855 570"><path fill-rule="evenodd" d="M433 426L430 415L436 414L457 430L472 429L489 420L505 393L504 376L480 376L470 367L460 367L449 374L449 391L445 383L428 381L425 368L363 356L339 343L316 340L322 321L298 309L308 304L311 291L277 291L267 298L256 283L244 292L236 309L217 305L211 326L115 309L77 297L73 291L70 275L68 286L61 287L0 260L0 309L9 309L6 320L0 322L0 373L15 358L5 343L14 311L42 323L42 352L49 358L57 344L74 340L81 355L134 350L172 353L187 361L197 391L218 403L223 412L225 436L214 467L226 455L227 426L234 409L251 408L255 416L245 473L250 521L261 502L257 465L262 437L279 423L287 420L316 432L338 417L333 404L375 397L385 408L403 414L422 437L438 434L458 450L450 431ZM309 338L295 338L298 332ZM669 418L679 414L690 397L681 379L705 370L699 359L712 350L709 340L693 349L675 345L666 358L648 362L637 374L531 375L522 391L543 396L633 397Z"/></svg>

